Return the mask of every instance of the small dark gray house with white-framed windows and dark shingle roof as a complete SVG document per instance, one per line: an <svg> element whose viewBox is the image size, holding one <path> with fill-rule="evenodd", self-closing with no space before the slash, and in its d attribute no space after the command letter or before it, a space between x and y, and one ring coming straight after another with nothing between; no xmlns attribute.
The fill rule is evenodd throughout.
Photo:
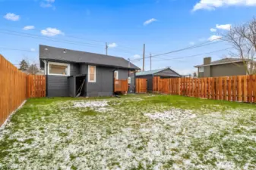
<svg viewBox="0 0 256 170"><path fill-rule="evenodd" d="M128 79L130 71L140 70L122 57L94 54L40 45L40 67L46 75L48 97L111 96L115 79Z"/></svg>

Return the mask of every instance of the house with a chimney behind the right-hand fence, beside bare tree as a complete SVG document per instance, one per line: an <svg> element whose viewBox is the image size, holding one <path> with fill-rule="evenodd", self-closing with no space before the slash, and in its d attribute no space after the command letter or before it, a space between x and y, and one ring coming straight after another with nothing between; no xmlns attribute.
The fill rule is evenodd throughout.
<svg viewBox="0 0 256 170"><path fill-rule="evenodd" d="M245 61L246 64L250 64ZM224 58L211 61L211 57L204 58L204 64L194 66L198 68L198 78L219 77L219 76L239 76L246 75L245 64L241 58Z"/></svg>

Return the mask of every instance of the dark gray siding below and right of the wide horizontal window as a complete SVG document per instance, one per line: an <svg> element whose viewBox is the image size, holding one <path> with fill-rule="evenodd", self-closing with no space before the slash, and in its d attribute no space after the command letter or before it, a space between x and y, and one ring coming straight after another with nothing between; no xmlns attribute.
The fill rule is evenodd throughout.
<svg viewBox="0 0 256 170"><path fill-rule="evenodd" d="M70 76L79 74L79 64L71 63ZM48 75L48 97L68 97L68 76Z"/></svg>

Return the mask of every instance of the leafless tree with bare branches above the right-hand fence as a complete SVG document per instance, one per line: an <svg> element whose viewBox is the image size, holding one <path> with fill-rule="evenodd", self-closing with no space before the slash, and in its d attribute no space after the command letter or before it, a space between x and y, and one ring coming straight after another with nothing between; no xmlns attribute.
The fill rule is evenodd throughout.
<svg viewBox="0 0 256 170"><path fill-rule="evenodd" d="M246 73L255 74L256 18L240 26L233 26L221 39L229 42L235 49L230 55L241 58Z"/></svg>

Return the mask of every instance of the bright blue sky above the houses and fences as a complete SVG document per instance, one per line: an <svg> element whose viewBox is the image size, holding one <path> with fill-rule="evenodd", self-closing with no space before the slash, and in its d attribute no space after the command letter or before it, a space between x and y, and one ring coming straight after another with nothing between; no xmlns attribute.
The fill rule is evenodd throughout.
<svg viewBox="0 0 256 170"><path fill-rule="evenodd" d="M256 0L0 0L0 8L0 54L11 63L23 58L39 63L40 44L105 54L108 42L110 55L142 66L137 59L144 43L147 57L207 42L230 25L251 20ZM230 46L219 42L153 57L152 69L171 66L179 73L192 73L204 57L218 60L229 51L189 56ZM150 60L145 63L149 70Z"/></svg>

